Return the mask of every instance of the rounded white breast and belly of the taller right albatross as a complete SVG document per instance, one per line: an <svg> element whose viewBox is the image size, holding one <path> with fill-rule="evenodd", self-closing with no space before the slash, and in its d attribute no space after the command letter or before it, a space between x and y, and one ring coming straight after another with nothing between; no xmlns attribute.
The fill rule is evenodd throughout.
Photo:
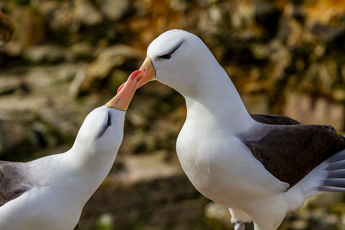
<svg viewBox="0 0 345 230"><path fill-rule="evenodd" d="M240 209L260 195L284 191L286 183L270 174L242 141L214 127L211 118L203 125L187 119L177 138L181 166L200 193L226 207Z"/></svg>

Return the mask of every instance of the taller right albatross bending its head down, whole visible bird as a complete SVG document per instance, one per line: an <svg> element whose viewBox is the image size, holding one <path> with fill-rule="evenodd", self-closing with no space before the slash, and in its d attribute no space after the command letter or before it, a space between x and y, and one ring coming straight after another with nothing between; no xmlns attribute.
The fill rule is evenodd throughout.
<svg viewBox="0 0 345 230"><path fill-rule="evenodd" d="M170 30L149 45L139 86L152 79L186 99L177 138L181 166L195 188L230 209L235 229L277 229L287 211L321 191L345 191L345 139L332 126L279 115L249 115L206 45Z"/></svg>

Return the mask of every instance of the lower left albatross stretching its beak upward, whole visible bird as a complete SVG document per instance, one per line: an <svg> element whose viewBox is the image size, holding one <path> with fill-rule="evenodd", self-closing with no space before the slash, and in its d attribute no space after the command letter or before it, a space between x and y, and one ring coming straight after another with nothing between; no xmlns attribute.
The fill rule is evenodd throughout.
<svg viewBox="0 0 345 230"><path fill-rule="evenodd" d="M0 229L66 229L109 173L122 142L126 109L144 73L133 72L120 92L94 109L72 148L20 163L0 161Z"/></svg>

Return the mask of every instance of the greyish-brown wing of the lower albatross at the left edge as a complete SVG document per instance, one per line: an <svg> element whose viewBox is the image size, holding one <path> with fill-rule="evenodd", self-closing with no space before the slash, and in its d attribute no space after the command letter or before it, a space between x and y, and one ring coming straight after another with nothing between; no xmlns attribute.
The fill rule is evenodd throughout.
<svg viewBox="0 0 345 230"><path fill-rule="evenodd" d="M0 161L0 207L31 188L30 185L21 183L25 181L21 175L24 164Z"/></svg>

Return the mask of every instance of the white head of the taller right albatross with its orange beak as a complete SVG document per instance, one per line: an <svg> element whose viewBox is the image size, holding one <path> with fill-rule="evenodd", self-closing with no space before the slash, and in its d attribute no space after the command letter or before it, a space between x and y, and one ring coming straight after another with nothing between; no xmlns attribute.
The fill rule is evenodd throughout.
<svg viewBox="0 0 345 230"><path fill-rule="evenodd" d="M146 75L139 87L158 80L184 96L205 92L217 77L215 71L225 74L199 37L177 29L162 33L151 42L140 70Z"/></svg>

